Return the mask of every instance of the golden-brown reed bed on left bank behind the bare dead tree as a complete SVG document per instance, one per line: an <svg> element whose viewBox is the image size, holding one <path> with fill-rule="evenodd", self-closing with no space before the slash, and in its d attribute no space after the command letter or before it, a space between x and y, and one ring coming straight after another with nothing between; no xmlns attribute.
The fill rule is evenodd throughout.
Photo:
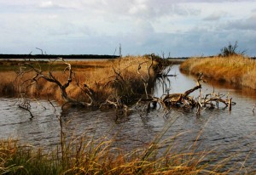
<svg viewBox="0 0 256 175"><path fill-rule="evenodd" d="M129 98L125 99L125 96L136 97L138 93L145 93L144 78L147 78L148 82L152 82L154 78L153 69L148 72L150 65L148 56L127 56L123 59L68 61L64 63L61 61L27 63L27 61L2 61L0 70L3 70L3 67L4 70L0 71L0 76L3 77L0 82L0 92L3 95L29 94L63 102L60 87L56 83L45 80L44 77L54 77L56 81L64 85L70 78L68 69L65 70L67 64L72 65L72 81L66 89L68 97L87 103L93 98L98 104L101 104L110 97L116 98L113 97L116 94L123 100L129 100ZM154 69L156 69L156 65L154 62ZM32 71L24 67L30 67ZM138 67L140 67L139 71ZM20 71L21 69L23 70ZM63 70L65 71L63 72ZM42 73L42 76L37 76L37 73ZM93 94L90 94L89 97L88 93Z"/></svg>

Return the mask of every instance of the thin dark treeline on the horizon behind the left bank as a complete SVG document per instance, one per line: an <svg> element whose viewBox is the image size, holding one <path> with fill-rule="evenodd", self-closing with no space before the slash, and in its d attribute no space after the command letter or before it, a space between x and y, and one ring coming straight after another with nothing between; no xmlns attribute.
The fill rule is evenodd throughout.
<svg viewBox="0 0 256 175"><path fill-rule="evenodd" d="M97 55L97 54L0 54L0 59L117 59L116 55Z"/></svg>

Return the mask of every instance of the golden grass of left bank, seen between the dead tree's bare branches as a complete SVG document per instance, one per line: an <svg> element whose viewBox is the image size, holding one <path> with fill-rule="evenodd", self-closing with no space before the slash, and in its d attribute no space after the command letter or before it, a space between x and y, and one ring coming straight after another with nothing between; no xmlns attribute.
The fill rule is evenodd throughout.
<svg viewBox="0 0 256 175"><path fill-rule="evenodd" d="M113 93L131 93L131 91L134 91L135 93L143 93L143 82L141 76L137 73L137 68L140 63L144 63L140 72L143 77L148 76L147 65L150 64L150 59L146 56L126 56L123 59L70 61L69 63L72 65L75 74L73 76L73 82L67 88L67 94L73 99L88 100L81 91L81 88L78 87L78 83L80 87L84 87L85 83L95 91L97 99L102 99L102 101L104 101ZM10 63L7 62L3 63L3 65L4 64ZM16 66L15 68L17 71L19 68L18 64L20 64L20 62L17 61L12 64L13 66ZM45 75L48 75L49 63L40 62L39 64L45 72ZM155 62L154 65L156 65ZM35 64L35 66L39 68L39 65ZM66 74L63 73L64 68L65 65L58 61L52 65L53 75L61 83L67 82L68 75L67 72ZM19 90L17 85L22 81L26 81L29 77L36 75L34 72L29 72L22 76L21 79L15 79L17 75L12 69L14 69L14 67L10 67L9 70L5 68L4 71L0 71L0 76L3 77L0 81L0 93L3 95L17 94ZM118 83L120 80L116 80L114 71L117 71L119 75L124 78L126 86L117 88L121 83ZM150 74L152 77L154 76L153 69L150 71ZM29 81L23 84L22 89L25 89L24 87L26 87L28 83ZM41 78L37 84L26 88L26 93L54 98L60 102L62 101L61 92L58 86L56 86L55 83L46 82L43 78Z"/></svg>

